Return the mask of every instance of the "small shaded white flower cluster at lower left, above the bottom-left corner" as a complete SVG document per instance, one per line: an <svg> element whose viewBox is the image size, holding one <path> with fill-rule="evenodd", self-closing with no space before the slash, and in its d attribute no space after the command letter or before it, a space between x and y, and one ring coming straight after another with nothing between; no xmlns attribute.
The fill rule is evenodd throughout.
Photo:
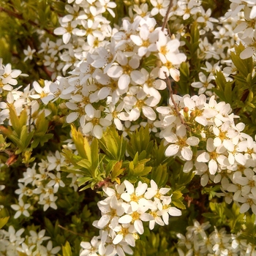
<svg viewBox="0 0 256 256"><path fill-rule="evenodd" d="M56 151L55 155L49 154L47 160L42 159L38 168L35 163L32 167L26 169L23 178L18 180L19 189L15 190L18 195L18 204L12 204L11 206L16 211L15 219L20 217L21 214L29 217L29 208L34 211L35 207L38 207L37 203L43 206L44 211L47 211L49 207L57 209L56 200L58 196L56 196L56 193L59 187L65 187L63 177L61 179L61 173L59 172L62 162L64 162L64 157L61 156L59 151ZM24 204L23 199L30 203Z"/></svg>

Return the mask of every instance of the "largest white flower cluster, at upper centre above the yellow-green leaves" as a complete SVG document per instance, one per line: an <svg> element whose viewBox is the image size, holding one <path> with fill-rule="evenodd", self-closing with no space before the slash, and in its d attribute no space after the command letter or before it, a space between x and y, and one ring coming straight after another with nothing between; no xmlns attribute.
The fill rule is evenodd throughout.
<svg viewBox="0 0 256 256"><path fill-rule="evenodd" d="M178 67L186 59L179 53L178 39L156 28L154 18L137 16L133 23L123 21L109 45L91 50L67 78L50 84L42 101L63 99L69 110L67 123L79 120L84 135L102 137L111 124L122 130L122 121L136 121L141 114L151 121L157 118L154 107L166 88L165 75L179 79ZM143 68L143 56L154 54L162 65ZM36 91L42 89L35 88Z"/></svg>

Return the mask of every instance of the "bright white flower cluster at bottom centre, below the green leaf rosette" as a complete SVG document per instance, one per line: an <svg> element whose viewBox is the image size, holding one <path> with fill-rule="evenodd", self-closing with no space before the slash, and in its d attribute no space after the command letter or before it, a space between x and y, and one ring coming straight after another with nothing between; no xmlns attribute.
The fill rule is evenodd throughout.
<svg viewBox="0 0 256 256"><path fill-rule="evenodd" d="M124 252L132 255L129 246L144 233L143 222L149 222L152 230L154 225L168 225L169 216L180 216L181 211L171 206L171 195L168 188L158 188L151 180L151 187L139 181L134 187L129 181L115 184L114 188L104 187L105 199L98 202L102 217L93 223L100 229L99 236L94 236L91 243L82 242L86 255L119 255Z"/></svg>

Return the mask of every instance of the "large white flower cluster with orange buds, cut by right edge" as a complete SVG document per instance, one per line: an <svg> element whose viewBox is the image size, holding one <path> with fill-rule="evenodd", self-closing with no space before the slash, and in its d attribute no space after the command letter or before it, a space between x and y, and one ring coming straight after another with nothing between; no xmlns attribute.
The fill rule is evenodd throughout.
<svg viewBox="0 0 256 256"><path fill-rule="evenodd" d="M244 213L252 208L256 214L256 143L243 131L243 123L235 123L230 105L200 96L176 96L180 108L177 116L173 103L158 107L162 120L155 122L165 138L165 154L184 161L184 172L195 171L201 185L221 182L227 203L234 200ZM199 145L200 143L200 145Z"/></svg>

